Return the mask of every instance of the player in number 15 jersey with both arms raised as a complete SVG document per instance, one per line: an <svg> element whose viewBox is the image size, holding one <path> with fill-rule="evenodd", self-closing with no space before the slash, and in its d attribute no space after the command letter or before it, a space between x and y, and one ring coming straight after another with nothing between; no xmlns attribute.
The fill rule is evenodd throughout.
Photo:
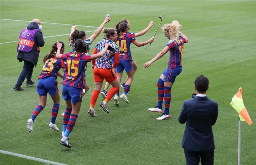
<svg viewBox="0 0 256 165"><path fill-rule="evenodd" d="M67 108L63 117L62 139L60 144L71 148L67 138L76 123L81 107L85 65L92 59L102 57L108 48L108 44L105 45L105 48L101 52L92 56L88 55L88 45L81 39L77 39L74 43L75 52L61 54L61 47L62 44L57 43L58 50L56 57L64 59L66 62L66 69L62 81L62 98L66 101Z"/></svg>

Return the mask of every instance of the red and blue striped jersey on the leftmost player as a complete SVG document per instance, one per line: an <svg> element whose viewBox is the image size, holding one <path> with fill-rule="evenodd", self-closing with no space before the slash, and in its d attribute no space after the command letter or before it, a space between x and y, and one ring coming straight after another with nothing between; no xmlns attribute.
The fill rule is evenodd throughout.
<svg viewBox="0 0 256 165"><path fill-rule="evenodd" d="M57 59L55 56L52 58L49 58L48 60L45 61L42 72L38 77L38 79L43 79L49 76L54 76L57 79L59 70L64 67L65 67L65 64L63 60Z"/></svg>

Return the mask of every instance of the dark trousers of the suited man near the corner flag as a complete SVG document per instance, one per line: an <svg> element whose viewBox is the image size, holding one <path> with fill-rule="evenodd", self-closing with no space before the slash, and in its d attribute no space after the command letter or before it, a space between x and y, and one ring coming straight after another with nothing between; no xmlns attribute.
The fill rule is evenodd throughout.
<svg viewBox="0 0 256 165"><path fill-rule="evenodd" d="M213 165L214 149L207 151L188 151L184 149L187 165Z"/></svg>

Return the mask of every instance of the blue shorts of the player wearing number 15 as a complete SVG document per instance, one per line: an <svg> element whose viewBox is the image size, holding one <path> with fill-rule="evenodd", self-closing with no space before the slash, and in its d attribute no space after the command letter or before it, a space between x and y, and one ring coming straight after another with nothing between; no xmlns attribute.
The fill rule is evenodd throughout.
<svg viewBox="0 0 256 165"><path fill-rule="evenodd" d="M71 101L71 103L81 102L83 98L83 89L63 85L62 98L66 101Z"/></svg>

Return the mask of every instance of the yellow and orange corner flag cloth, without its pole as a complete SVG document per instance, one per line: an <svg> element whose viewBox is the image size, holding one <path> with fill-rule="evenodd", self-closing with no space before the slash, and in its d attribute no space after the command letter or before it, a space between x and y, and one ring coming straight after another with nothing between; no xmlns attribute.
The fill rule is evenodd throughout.
<svg viewBox="0 0 256 165"><path fill-rule="evenodd" d="M230 105L239 113L239 120L246 121L249 125L253 124L246 107L244 107L244 101L242 98L242 88L234 95Z"/></svg>

